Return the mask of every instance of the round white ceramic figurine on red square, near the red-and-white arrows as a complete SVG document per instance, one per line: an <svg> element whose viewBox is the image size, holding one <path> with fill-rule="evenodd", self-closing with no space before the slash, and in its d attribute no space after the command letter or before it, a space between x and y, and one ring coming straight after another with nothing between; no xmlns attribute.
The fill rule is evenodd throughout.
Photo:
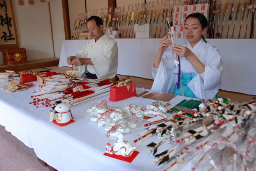
<svg viewBox="0 0 256 171"><path fill-rule="evenodd" d="M55 107L55 111L58 112L56 117L57 123L67 123L72 119L69 105L66 103L57 104Z"/></svg>

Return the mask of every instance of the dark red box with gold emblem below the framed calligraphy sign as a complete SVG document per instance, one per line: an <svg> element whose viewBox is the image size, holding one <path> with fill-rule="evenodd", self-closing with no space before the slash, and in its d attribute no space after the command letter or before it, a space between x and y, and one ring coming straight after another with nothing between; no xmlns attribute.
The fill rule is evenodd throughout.
<svg viewBox="0 0 256 171"><path fill-rule="evenodd" d="M16 65L27 63L27 52L25 48L3 49L4 65Z"/></svg>

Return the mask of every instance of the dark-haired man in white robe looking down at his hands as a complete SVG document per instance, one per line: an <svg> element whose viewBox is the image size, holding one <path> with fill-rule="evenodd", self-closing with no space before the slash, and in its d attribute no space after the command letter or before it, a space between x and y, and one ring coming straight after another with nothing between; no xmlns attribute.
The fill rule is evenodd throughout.
<svg viewBox="0 0 256 171"><path fill-rule="evenodd" d="M100 17L92 16L87 20L88 32L93 38L78 51L67 58L67 64L78 69L79 77L100 79L115 77L118 65L117 43L103 32L103 22ZM93 77L90 77L93 75Z"/></svg>

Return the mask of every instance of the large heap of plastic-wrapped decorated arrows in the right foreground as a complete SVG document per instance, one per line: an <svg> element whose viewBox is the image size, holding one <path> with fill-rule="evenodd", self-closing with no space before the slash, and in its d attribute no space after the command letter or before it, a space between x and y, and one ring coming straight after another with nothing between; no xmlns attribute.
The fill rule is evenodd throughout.
<svg viewBox="0 0 256 171"><path fill-rule="evenodd" d="M255 106L256 98L240 104L202 101L190 113L177 112L176 105L169 110L171 117L147 128L134 143L160 138L147 146L155 157L153 165L162 170L255 170ZM163 151L157 153L160 147Z"/></svg>

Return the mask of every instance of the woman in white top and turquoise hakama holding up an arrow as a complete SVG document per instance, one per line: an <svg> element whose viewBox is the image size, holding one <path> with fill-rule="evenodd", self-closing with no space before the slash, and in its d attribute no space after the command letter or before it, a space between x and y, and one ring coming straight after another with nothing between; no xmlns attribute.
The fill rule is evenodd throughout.
<svg viewBox="0 0 256 171"><path fill-rule="evenodd" d="M164 52L172 42L167 40L168 35L160 41L152 67L155 78L152 90L193 98L215 98L221 85L223 64L219 50L206 43L202 36L207 25L201 13L190 14L185 20L187 43L184 46L174 45Z"/></svg>

